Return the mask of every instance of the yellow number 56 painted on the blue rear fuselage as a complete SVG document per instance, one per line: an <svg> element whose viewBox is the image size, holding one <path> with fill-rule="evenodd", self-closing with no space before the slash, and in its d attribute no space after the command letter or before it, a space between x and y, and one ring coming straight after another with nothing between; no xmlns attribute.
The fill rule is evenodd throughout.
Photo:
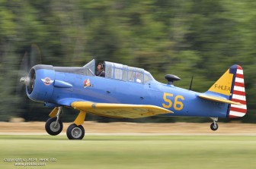
<svg viewBox="0 0 256 169"><path fill-rule="evenodd" d="M165 103L166 103L166 105L165 105L165 103L162 104L162 106L163 106L164 108L171 108L172 102L171 102L171 99L170 99L170 98L172 98L172 97L174 97L173 94L168 93L168 92L164 92L163 99L164 99L164 101L165 101ZM168 98L169 98L169 99L168 99ZM182 103L181 101L178 101L178 99L184 100L184 97L183 97L182 95L176 95L176 96L174 97L174 109L175 109L176 111L180 111L180 110L182 110L182 108L183 108L183 103Z"/></svg>

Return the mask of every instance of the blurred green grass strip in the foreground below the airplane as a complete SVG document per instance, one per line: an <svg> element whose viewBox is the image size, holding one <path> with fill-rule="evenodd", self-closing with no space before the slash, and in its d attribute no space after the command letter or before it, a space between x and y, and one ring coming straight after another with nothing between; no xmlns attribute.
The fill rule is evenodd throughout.
<svg viewBox="0 0 256 169"><path fill-rule="evenodd" d="M255 168L256 136L0 136L0 168ZM5 158L51 158L17 167Z"/></svg>

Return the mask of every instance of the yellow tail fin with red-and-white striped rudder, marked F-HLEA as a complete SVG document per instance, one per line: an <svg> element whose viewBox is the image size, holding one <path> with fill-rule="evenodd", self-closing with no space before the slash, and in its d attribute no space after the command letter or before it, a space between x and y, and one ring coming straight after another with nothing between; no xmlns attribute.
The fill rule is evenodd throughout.
<svg viewBox="0 0 256 169"><path fill-rule="evenodd" d="M222 96L242 105L229 105L227 117L243 117L246 114L245 81L242 67L233 65L207 92ZM207 93L206 92L206 93Z"/></svg>

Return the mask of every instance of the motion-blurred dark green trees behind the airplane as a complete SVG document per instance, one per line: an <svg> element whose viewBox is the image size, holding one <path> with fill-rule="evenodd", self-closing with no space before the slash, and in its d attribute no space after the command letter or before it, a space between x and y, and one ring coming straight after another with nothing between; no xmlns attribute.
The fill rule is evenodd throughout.
<svg viewBox="0 0 256 169"><path fill-rule="evenodd" d="M83 66L92 58L142 67L156 80L205 92L232 65L244 69L248 114L255 123L256 2L245 0L0 0L0 120L46 120L50 108L27 99L18 80L24 58ZM24 87L23 87L24 88ZM64 121L76 111L65 109ZM88 116L88 120L114 121ZM119 120L119 119L118 119ZM209 121L149 117L137 122ZM227 121L227 120L225 120Z"/></svg>

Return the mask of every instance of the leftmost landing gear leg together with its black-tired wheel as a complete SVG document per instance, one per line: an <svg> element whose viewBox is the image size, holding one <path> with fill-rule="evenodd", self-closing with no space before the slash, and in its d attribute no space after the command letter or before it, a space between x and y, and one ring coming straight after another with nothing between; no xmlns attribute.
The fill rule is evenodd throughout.
<svg viewBox="0 0 256 169"><path fill-rule="evenodd" d="M46 132L52 136L56 136L62 132L63 124L62 120L59 120L59 116L62 113L62 107L54 108L50 113L50 118L46 120L45 129ZM53 115L56 114L56 117Z"/></svg>

